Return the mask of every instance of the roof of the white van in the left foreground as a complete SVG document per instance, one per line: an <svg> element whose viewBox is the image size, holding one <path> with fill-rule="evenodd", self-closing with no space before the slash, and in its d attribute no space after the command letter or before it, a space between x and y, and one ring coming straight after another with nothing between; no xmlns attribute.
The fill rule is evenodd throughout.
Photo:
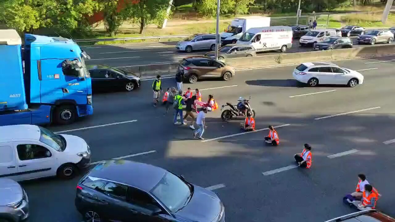
<svg viewBox="0 0 395 222"><path fill-rule="evenodd" d="M0 126L0 141L15 141L21 139L40 139L40 128L35 125Z"/></svg>

